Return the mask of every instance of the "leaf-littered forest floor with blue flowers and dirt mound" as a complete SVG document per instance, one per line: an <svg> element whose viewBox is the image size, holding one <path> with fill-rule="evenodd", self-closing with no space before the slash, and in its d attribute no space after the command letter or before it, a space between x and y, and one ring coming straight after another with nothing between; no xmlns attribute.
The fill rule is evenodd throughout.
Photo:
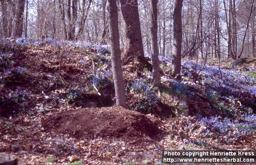
<svg viewBox="0 0 256 165"><path fill-rule="evenodd" d="M160 56L157 89L130 63L128 110L114 106L107 46L10 39L0 51L0 152L20 164L161 164L163 149L256 149L254 65L183 59L178 82Z"/></svg>

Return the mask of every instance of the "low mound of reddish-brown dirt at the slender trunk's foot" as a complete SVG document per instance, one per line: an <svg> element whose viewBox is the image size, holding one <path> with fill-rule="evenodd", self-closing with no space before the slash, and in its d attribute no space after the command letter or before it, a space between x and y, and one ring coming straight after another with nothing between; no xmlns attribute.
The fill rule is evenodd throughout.
<svg viewBox="0 0 256 165"><path fill-rule="evenodd" d="M76 138L146 137L155 139L160 129L146 115L122 107L84 108L50 116L44 129L69 134Z"/></svg>

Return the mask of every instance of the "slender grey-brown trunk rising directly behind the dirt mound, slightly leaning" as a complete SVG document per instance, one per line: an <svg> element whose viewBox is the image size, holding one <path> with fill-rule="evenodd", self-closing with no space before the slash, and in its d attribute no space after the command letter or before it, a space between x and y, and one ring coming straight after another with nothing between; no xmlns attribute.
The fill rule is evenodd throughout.
<svg viewBox="0 0 256 165"><path fill-rule="evenodd" d="M112 70L116 93L116 105L126 107L126 95L124 90L122 63L120 57L118 10L116 6L116 0L108 0L108 10Z"/></svg>

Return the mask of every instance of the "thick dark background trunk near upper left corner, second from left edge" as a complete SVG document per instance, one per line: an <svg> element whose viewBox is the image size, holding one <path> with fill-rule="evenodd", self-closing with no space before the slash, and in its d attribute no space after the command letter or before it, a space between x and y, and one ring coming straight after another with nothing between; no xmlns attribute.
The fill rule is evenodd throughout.
<svg viewBox="0 0 256 165"><path fill-rule="evenodd" d="M22 37L25 2L26 0L17 0L16 12L12 21L12 37Z"/></svg>

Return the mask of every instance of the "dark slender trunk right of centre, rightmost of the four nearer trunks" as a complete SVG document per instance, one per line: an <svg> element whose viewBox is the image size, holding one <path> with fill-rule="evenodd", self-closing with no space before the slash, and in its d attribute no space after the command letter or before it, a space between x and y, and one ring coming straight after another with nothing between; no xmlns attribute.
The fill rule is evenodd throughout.
<svg viewBox="0 0 256 165"><path fill-rule="evenodd" d="M173 39L173 54L172 54L172 76L178 79L181 69L181 43L182 43L182 1L174 0L174 12L173 12L173 26L174 26L174 39Z"/></svg>

